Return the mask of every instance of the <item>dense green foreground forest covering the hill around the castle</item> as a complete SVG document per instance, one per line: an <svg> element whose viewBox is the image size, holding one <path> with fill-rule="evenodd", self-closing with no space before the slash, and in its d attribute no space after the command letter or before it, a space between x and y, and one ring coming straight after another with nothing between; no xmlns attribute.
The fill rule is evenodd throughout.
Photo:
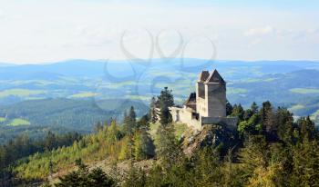
<svg viewBox="0 0 319 187"><path fill-rule="evenodd" d="M121 125L115 119L111 120L111 123L98 123L96 133L82 138L67 138L74 141L72 144L68 141L51 144L48 141L50 138L46 138L43 142L46 149L15 157L10 166L2 167L5 168L2 171L2 184L43 182L45 186L319 185L319 133L309 117L294 121L293 113L283 107L274 108L270 102L264 102L261 106L252 103L248 109L243 109L241 104L228 103L228 115L239 119L237 130L232 131L232 139L227 139L228 142L202 143L201 149L185 154L182 148L185 140L176 135L176 125L172 123L170 115L170 106L174 105L171 91L168 88L162 90L160 96L153 98L150 105L154 103L160 103L160 112L150 110L137 119L134 107L131 107L124 114ZM154 123L159 126L153 134L151 127ZM211 125L220 129L226 128L220 124ZM47 135L51 136L52 134ZM63 140L63 137L58 139ZM17 145L10 147L10 150L18 152L21 143L25 142L16 141L14 144ZM6 146L11 145L2 147L2 162ZM28 157L19 159L28 154ZM109 163L109 172L99 167L89 169L87 164L103 159ZM139 165L140 162L149 160L152 162L148 169ZM118 171L118 165L124 161L129 161L129 169ZM59 175L59 180L52 184L53 173L61 171L69 173ZM8 176L5 173L15 176L15 180L8 182L4 178Z"/></svg>

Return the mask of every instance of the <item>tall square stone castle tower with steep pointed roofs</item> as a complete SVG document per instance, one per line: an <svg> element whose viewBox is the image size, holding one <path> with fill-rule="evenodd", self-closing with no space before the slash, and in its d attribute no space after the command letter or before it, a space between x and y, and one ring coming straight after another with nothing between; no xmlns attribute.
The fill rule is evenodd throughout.
<svg viewBox="0 0 319 187"><path fill-rule="evenodd" d="M226 117L226 82L217 70L201 72L196 84L196 111L203 117Z"/></svg>

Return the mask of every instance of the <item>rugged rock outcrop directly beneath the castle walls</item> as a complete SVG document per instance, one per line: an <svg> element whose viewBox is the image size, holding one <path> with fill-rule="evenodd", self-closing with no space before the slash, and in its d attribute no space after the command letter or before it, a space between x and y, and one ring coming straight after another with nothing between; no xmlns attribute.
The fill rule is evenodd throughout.
<svg viewBox="0 0 319 187"><path fill-rule="evenodd" d="M180 141L183 152L191 156L205 146L221 146L221 149L228 149L236 144L237 134L225 126L208 124L204 125L201 131L190 129L183 133Z"/></svg>

